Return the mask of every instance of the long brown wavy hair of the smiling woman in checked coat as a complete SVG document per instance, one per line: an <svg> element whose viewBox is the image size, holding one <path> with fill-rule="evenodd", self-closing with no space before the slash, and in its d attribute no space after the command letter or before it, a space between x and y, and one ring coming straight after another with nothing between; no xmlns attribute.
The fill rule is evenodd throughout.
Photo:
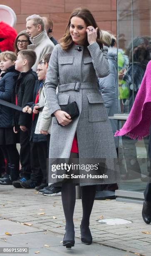
<svg viewBox="0 0 151 256"><path fill-rule="evenodd" d="M99 44L100 49L103 49L103 45L102 45L102 42L101 42L102 35L100 35L101 31L100 31L99 27L97 26L97 23L94 20L94 17L92 15L92 13L89 11L89 9L82 8L82 7L73 10L73 12L71 13L71 15L69 17L69 21L68 21L68 24L67 24L67 27L66 27L66 30L65 30L65 34L59 40L59 43L60 43L62 49L67 51L74 44L74 42L72 40L72 37L70 35L69 29L70 29L71 19L72 19L72 17L75 17L75 16L84 20L84 22L86 23L87 26L93 26L94 28L98 28L98 30L97 30L97 43ZM89 46L88 40L86 40L85 46Z"/></svg>

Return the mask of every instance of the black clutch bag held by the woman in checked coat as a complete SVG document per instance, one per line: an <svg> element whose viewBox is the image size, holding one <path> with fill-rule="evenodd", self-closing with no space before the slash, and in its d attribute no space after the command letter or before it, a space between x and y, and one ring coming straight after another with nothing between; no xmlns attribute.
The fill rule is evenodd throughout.
<svg viewBox="0 0 151 256"><path fill-rule="evenodd" d="M75 101L68 105L60 106L60 108L62 111L67 112L71 116L71 119L79 116L79 109L77 106L77 102L75 102ZM58 121L57 121L57 123L58 123Z"/></svg>

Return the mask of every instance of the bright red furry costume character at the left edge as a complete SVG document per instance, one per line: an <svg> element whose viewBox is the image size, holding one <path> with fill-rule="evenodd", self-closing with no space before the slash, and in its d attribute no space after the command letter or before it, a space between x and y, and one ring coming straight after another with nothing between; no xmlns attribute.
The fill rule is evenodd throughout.
<svg viewBox="0 0 151 256"><path fill-rule="evenodd" d="M0 21L0 51L14 51L17 32L7 23Z"/></svg>

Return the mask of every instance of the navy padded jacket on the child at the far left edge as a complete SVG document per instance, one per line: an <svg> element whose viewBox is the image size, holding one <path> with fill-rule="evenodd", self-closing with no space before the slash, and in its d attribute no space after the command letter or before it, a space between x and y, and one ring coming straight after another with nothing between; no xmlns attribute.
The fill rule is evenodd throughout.
<svg viewBox="0 0 151 256"><path fill-rule="evenodd" d="M7 69L0 79L0 100L11 102L12 94L15 87L14 77L19 74L15 66ZM12 109L0 105L0 128L12 127Z"/></svg>

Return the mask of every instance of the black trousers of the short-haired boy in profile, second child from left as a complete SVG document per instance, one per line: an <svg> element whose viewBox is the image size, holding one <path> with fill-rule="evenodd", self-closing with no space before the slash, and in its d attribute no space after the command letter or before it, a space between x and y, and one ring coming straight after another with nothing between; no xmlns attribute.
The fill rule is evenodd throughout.
<svg viewBox="0 0 151 256"><path fill-rule="evenodd" d="M20 177L30 178L30 129L25 132L20 130L20 164Z"/></svg>

